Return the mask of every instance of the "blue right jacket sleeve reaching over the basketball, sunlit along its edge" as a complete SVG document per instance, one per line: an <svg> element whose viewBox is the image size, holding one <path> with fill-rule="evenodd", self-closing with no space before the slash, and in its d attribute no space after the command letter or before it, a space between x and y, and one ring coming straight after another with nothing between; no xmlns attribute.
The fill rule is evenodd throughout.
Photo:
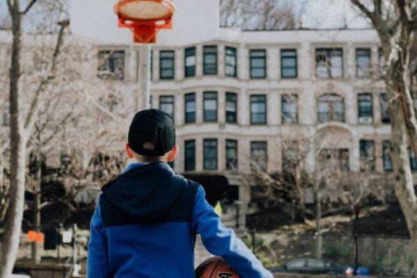
<svg viewBox="0 0 417 278"><path fill-rule="evenodd" d="M272 274L263 268L262 263L237 238L232 229L222 224L213 206L208 204L202 186L199 187L193 219L192 229L200 234L208 252L222 258L236 270L243 278L272 278Z"/></svg>

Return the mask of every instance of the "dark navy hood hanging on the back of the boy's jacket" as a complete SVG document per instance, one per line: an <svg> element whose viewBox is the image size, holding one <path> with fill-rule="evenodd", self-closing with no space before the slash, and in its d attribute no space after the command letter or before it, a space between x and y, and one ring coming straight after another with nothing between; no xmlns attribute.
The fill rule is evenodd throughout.
<svg viewBox="0 0 417 278"><path fill-rule="evenodd" d="M134 167L103 186L103 197L129 218L158 222L183 190L178 176L167 163Z"/></svg>

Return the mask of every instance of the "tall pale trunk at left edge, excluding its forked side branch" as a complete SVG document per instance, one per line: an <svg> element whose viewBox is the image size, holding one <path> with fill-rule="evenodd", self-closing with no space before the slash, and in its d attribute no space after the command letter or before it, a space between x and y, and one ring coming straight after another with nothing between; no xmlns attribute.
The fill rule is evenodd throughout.
<svg viewBox="0 0 417 278"><path fill-rule="evenodd" d="M9 206L1 245L0 278L9 278L15 264L22 229L24 209L24 184L26 142L20 112L19 79L20 51L22 45L22 14L19 1L9 6L12 17L12 61L10 67L10 190Z"/></svg>

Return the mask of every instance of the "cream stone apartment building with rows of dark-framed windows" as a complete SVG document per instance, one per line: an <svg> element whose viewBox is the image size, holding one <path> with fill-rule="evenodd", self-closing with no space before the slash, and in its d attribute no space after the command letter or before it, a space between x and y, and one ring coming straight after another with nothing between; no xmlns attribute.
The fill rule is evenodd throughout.
<svg viewBox="0 0 417 278"><path fill-rule="evenodd" d="M221 28L210 42L152 47L151 106L177 125L180 152L172 167L225 177L241 211L254 186L243 174L285 170L301 142L306 172L336 158L358 177L389 182L391 127L379 47L371 29L235 28ZM137 49L99 44L97 51L98 77L139 99ZM411 152L410 160L417 170Z"/></svg>

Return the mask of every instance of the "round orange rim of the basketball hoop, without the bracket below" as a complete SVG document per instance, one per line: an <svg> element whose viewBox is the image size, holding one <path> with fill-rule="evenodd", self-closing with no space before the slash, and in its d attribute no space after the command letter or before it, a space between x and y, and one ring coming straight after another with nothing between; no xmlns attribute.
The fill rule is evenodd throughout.
<svg viewBox="0 0 417 278"><path fill-rule="evenodd" d="M122 8L122 6L129 4L129 3L134 3L134 2L156 2L156 3L160 3L162 6L165 6L168 8L169 13L167 13L167 15L163 16L163 17L156 17L156 18L152 18L152 19L140 19L140 18L135 18L135 17L127 17L126 15L123 15L120 11L120 9ZM117 17L119 17L120 20L122 20L123 22L126 21L131 21L133 23L151 23L154 24L156 22L161 22L164 21L165 23L170 22L170 19L172 18L172 15L174 15L175 12L175 6L174 3L172 3L172 0L122 0L122 1L118 1L115 4L115 13L117 14Z"/></svg>

